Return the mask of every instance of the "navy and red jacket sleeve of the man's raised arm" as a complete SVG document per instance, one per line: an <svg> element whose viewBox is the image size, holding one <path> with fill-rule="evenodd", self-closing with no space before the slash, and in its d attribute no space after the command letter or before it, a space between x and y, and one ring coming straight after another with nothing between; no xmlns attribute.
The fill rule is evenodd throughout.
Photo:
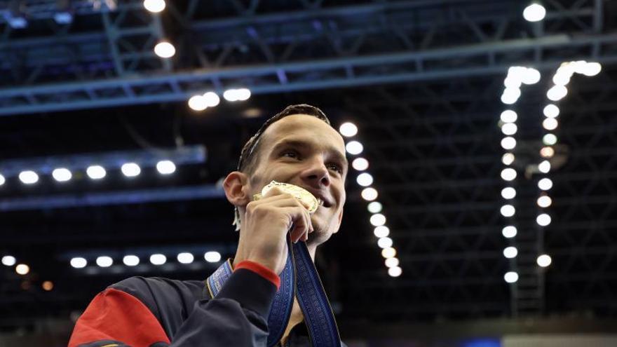
<svg viewBox="0 0 617 347"><path fill-rule="evenodd" d="M69 347L266 346L277 288L249 268L236 268L214 299L195 301L172 336L161 325L165 310L149 307L161 299L153 297L156 290L143 288L145 281L133 284L142 286L140 296L150 297L115 288L101 292L77 321Z"/></svg>

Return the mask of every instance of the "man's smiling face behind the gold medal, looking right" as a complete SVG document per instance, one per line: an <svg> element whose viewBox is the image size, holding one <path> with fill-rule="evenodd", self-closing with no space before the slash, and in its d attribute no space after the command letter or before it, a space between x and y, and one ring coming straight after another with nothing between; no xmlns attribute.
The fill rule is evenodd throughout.
<svg viewBox="0 0 617 347"><path fill-rule="evenodd" d="M315 232L309 234L308 243L324 243L339 231L346 200L343 138L321 119L297 114L270 125L260 141L250 193L259 193L274 180L301 186L321 198L323 205L311 216Z"/></svg>

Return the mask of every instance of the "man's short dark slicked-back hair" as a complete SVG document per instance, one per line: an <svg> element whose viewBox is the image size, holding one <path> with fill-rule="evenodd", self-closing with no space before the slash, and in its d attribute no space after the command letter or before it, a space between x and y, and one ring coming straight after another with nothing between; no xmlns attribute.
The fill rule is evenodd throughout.
<svg viewBox="0 0 617 347"><path fill-rule="evenodd" d="M259 149L261 148L261 140L264 131L276 121L280 121L286 116L292 114L306 114L308 116L315 116L322 121L325 121L327 125L330 125L330 119L321 111L318 107L311 106L309 104L295 104L285 107L283 111L278 112L267 121L264 122L261 128L255 132L255 135L246 142L242 151L240 152L240 158L238 158L238 171L245 173L252 173L257 165L257 158L259 157ZM234 210L233 224L236 225L236 230L240 230L240 211L238 207Z"/></svg>

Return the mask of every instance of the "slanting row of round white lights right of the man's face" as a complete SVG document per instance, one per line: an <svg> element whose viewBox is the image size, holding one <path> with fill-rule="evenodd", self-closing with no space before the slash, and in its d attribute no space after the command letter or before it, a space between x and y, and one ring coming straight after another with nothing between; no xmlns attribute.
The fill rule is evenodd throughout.
<svg viewBox="0 0 617 347"><path fill-rule="evenodd" d="M347 122L341 124L339 127L339 132L344 137L354 137L358 134L358 127L355 124ZM364 147L357 140L352 140L347 142L345 149L348 154L353 156L358 156L362 153ZM371 185L373 184L372 175L367 172L369 168L369 162L366 158L356 157L351 162L351 167L360 172L360 174L355 178L355 182L358 185L365 187L362 189L361 196L364 200L369 201L368 210L372 213L369 218L369 222L372 226L374 226L374 235L377 237L377 245L381 248L381 256L385 259L386 267L388 268L388 275L392 277L398 277L402 273L402 268L400 268L400 261L396 257L396 249L393 246L392 238L388 237L390 235L390 229L386 226L386 216L383 214L383 206L379 201L376 201L379 193L377 189L374 189Z"/></svg>

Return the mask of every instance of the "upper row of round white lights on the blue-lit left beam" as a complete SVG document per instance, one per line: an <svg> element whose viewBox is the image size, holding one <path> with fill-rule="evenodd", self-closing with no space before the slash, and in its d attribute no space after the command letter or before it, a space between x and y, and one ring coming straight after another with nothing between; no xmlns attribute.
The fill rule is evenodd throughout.
<svg viewBox="0 0 617 347"><path fill-rule="evenodd" d="M126 177L136 177L142 172L142 168L137 163L124 163L120 168ZM176 170L176 165L172 161L163 160L156 163L156 170L161 175L170 175ZM86 175L90 179L102 179L107 175L107 170L101 165L90 165L86 168ZM73 172L67 168L55 168L51 171L51 176L57 182L68 182L73 178ZM35 184L39 182L39 173L34 170L23 170L18 178L23 184ZM6 182L6 177L0 173L0 186Z"/></svg>

